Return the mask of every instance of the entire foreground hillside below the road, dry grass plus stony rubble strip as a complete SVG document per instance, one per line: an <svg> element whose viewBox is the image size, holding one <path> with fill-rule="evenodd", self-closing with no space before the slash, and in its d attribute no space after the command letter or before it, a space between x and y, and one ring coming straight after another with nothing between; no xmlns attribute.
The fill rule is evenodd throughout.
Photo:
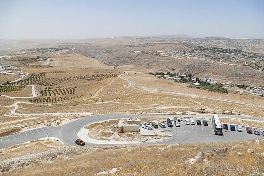
<svg viewBox="0 0 264 176"><path fill-rule="evenodd" d="M34 146L38 146L37 148ZM71 147L52 141L5 148L2 175L241 175L263 176L264 140L109 147ZM64 148L64 149L63 149ZM4 156L11 152L8 159ZM21 156L24 155L24 156ZM3 163L9 163L3 167ZM5 173L6 171L10 171Z"/></svg>

